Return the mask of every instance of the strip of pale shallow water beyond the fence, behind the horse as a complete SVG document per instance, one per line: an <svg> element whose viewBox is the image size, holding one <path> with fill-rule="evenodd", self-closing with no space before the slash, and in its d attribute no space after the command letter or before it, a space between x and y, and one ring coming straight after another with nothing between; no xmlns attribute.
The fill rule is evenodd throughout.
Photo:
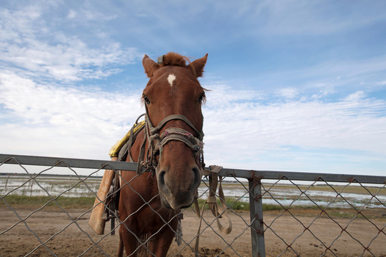
<svg viewBox="0 0 386 257"><path fill-rule="evenodd" d="M31 179L28 176L0 176L0 196L66 196L79 197L96 195L101 178L77 176L39 176ZM237 201L249 202L248 186L229 183L224 184L224 195ZM302 193L295 186L279 186L277 188L264 186L262 202L282 206L329 206L330 208L386 208L386 189L380 187L381 193L373 197L370 193L338 194L334 191L309 188ZM264 191L267 190L267 191ZM199 188L200 198L207 198L209 189L205 183Z"/></svg>

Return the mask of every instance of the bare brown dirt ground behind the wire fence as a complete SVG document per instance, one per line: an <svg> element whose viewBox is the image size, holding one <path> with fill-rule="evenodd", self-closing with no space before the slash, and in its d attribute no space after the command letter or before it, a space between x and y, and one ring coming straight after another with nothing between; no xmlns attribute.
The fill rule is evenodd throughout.
<svg viewBox="0 0 386 257"><path fill-rule="evenodd" d="M59 209L33 213L31 208L16 208L16 215L9 208L1 207L0 256L52 256L49 251L56 256L116 256L117 235L96 235L87 224L90 213L85 213L86 210L66 211L73 219L80 217L79 220L72 223L71 218ZM19 222L18 216L28 218ZM266 256L386 256L386 218L382 215L372 218L371 222L365 218L335 218L332 221L320 217L315 220L316 215L312 213L295 218L288 213L277 216L279 212L264 212L264 222L269 226L264 234ZM204 217L207 223L212 223L209 211ZM230 217L233 231L226 236L218 232L215 222L212 227L202 226L201 256L252 256L251 235L247 228L249 212L232 213ZM199 220L194 213L185 211L182 221L184 241L182 246L174 242L168 256L194 256L190 247L194 248L198 226ZM369 251L365 250L367 247Z"/></svg>

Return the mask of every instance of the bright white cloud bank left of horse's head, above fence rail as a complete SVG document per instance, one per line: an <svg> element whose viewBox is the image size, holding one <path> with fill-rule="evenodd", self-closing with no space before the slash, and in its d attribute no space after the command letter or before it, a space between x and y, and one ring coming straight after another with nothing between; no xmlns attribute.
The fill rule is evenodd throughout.
<svg viewBox="0 0 386 257"><path fill-rule="evenodd" d="M44 86L1 73L2 151L105 159L142 114L140 96Z"/></svg>

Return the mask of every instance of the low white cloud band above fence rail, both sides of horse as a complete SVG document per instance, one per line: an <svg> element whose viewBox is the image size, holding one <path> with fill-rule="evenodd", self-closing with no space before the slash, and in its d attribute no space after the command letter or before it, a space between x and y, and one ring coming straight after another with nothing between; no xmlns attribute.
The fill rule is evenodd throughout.
<svg viewBox="0 0 386 257"><path fill-rule="evenodd" d="M345 152L334 157L349 160L344 163L379 162L386 156L386 141L380 139L386 138L384 100L367 99L359 91L333 103L271 99L262 104L257 91L235 91L225 84L208 87L212 91L207 92L203 111L207 164L300 171L312 166L300 163L328 160L334 151ZM143 112L140 96L140 91L117 97L103 91L44 86L3 72L2 151L107 159L109 148ZM293 147L302 148L302 153ZM324 152L317 153L320 149ZM314 171L325 171L319 169L326 165ZM340 172L355 172L352 165L340 168L346 168Z"/></svg>

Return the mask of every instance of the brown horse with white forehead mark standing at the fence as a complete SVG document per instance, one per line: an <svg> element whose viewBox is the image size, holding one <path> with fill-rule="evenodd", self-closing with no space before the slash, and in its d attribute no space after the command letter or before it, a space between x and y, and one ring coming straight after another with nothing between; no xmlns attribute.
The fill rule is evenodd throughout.
<svg viewBox="0 0 386 257"><path fill-rule="evenodd" d="M179 209L192 204L201 182L205 93L197 78L207 55L187 61L175 53L162 56L158 64L147 55L142 60L149 76L142 94L146 124L126 159L138 161L139 171L121 175L118 256L123 246L127 256L137 256L140 248L149 256L166 256Z"/></svg>

